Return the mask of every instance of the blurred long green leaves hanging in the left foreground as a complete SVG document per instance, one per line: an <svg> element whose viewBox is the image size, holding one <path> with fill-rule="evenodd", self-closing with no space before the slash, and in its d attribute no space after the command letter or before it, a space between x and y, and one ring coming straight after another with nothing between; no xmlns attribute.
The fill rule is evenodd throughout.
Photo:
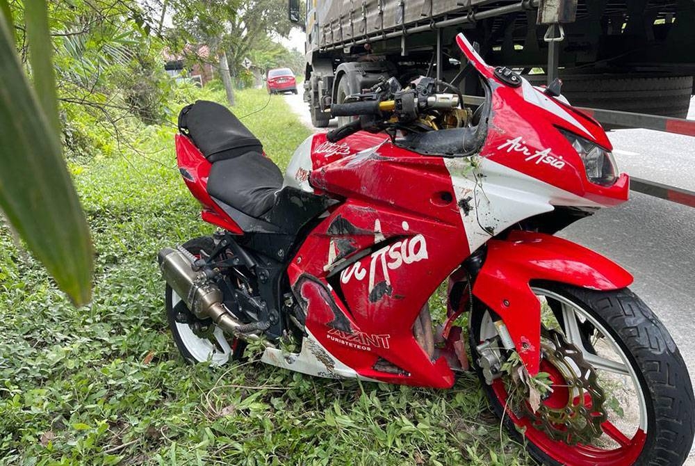
<svg viewBox="0 0 695 466"><path fill-rule="evenodd" d="M38 0L24 3L27 16L33 1ZM37 22L33 28L37 27L45 30L34 30L31 37L38 42L28 45L41 104L19 63L8 26L0 19L0 208L58 287L81 305L91 295L92 241L61 154L56 123L44 113L57 108L56 91L51 92L49 79L41 76L50 74L52 81L48 26Z"/></svg>

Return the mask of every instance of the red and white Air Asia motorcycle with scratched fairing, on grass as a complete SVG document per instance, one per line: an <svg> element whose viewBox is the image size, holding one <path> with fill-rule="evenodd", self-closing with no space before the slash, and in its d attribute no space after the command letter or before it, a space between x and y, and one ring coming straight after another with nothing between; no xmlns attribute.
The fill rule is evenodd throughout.
<svg viewBox="0 0 695 466"><path fill-rule="evenodd" d="M482 104L455 81L379 81L332 106L354 120L306 139L284 177L223 106L181 111L179 170L220 230L159 253L179 350L224 364L256 340L293 371L450 388L468 339L493 409L542 463L682 464L694 401L673 339L630 273L553 236L628 200L610 141L559 83L457 42Z"/></svg>

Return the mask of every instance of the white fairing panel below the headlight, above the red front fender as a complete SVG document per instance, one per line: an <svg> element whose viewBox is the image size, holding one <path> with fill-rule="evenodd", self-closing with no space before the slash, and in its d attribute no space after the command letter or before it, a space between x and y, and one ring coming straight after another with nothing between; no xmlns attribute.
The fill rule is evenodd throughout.
<svg viewBox="0 0 695 466"><path fill-rule="evenodd" d="M477 157L444 159L473 252L502 230L554 206L600 207L591 200Z"/></svg>

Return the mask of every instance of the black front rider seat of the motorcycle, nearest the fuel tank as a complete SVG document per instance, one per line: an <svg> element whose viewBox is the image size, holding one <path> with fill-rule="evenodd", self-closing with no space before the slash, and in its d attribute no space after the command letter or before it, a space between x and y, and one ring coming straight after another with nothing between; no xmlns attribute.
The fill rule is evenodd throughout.
<svg viewBox="0 0 695 466"><path fill-rule="evenodd" d="M272 208L281 188L280 169L259 152L216 161L208 176L209 195L256 218Z"/></svg>

